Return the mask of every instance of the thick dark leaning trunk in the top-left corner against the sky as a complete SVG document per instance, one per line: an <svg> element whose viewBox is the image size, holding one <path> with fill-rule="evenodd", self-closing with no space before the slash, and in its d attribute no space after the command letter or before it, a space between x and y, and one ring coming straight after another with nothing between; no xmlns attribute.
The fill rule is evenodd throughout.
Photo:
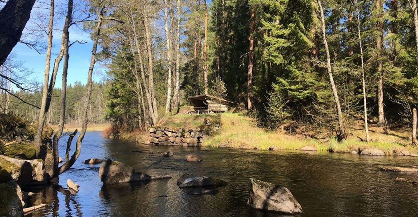
<svg viewBox="0 0 418 217"><path fill-rule="evenodd" d="M0 11L0 65L19 42L35 0L8 0Z"/></svg>

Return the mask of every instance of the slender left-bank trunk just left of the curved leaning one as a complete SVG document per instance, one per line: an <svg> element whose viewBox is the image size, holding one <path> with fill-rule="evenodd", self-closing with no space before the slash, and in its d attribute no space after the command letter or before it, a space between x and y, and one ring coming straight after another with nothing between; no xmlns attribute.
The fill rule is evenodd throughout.
<svg viewBox="0 0 418 217"><path fill-rule="evenodd" d="M62 89L61 90L61 114L59 117L58 130L52 139L52 154L54 156L54 166L51 172L49 172L51 177L55 177L56 173L58 172L58 164L59 164L58 142L59 142L59 139L61 138L62 132L64 130L64 124L65 124L67 73L68 73L68 60L69 60L69 52L68 52L69 30L68 29L70 27L70 22L72 20L72 12L73 12L73 0L69 0L68 6L67 6L67 15L65 17L64 28L62 30L62 37L61 37L61 50L63 50L63 55L64 55L64 63L62 66L63 70L62 70L62 86L61 86L61 89Z"/></svg>

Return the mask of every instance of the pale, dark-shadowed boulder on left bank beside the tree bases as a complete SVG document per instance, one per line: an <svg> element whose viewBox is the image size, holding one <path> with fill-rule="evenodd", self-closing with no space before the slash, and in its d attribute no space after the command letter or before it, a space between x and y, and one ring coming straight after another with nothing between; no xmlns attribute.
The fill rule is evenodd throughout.
<svg viewBox="0 0 418 217"><path fill-rule="evenodd" d="M8 171L20 187L46 183L43 160L20 160L0 155L0 167Z"/></svg>

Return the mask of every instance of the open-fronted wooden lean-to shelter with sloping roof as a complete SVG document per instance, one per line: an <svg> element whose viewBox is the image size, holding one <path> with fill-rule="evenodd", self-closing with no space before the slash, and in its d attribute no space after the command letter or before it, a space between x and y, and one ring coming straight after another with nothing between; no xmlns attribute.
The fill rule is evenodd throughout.
<svg viewBox="0 0 418 217"><path fill-rule="evenodd" d="M212 96L209 94L191 96L189 99L193 104L193 111L189 111L189 114L227 112L234 104L233 102L225 100L224 98Z"/></svg>

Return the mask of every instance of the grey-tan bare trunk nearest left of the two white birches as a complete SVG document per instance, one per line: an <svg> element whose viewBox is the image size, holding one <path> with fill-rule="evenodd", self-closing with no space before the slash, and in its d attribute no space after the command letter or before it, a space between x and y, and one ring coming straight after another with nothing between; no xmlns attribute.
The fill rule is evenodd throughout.
<svg viewBox="0 0 418 217"><path fill-rule="evenodd" d="M152 107L150 110L153 110L153 125L156 125L158 122L158 110L157 110L157 101L155 100L155 87L154 87L154 71L153 71L153 54L151 51L151 36L150 36L150 25L148 20L148 7L149 5L144 2L145 12L144 12L144 30L145 30L145 46L147 50L148 55L148 87L150 89L150 95L151 95L151 101L152 101Z"/></svg>

